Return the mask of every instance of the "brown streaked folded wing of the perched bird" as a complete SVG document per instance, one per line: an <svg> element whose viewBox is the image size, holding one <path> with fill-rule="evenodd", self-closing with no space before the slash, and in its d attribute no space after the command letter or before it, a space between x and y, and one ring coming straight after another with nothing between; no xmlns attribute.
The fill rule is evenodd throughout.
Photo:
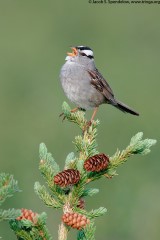
<svg viewBox="0 0 160 240"><path fill-rule="evenodd" d="M106 100L112 104L116 104L114 99L114 94L109 84L106 82L102 74L96 70L88 70L88 73L91 77L91 84L95 87L99 92L101 92Z"/></svg>

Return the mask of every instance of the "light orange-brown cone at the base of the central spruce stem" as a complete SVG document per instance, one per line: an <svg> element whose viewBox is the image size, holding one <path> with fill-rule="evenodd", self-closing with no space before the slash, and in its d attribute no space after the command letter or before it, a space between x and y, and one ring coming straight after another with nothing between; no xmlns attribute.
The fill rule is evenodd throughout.
<svg viewBox="0 0 160 240"><path fill-rule="evenodd" d="M86 216L79 213L65 213L62 216L62 220L66 225L78 230L85 228L90 223L90 220Z"/></svg>

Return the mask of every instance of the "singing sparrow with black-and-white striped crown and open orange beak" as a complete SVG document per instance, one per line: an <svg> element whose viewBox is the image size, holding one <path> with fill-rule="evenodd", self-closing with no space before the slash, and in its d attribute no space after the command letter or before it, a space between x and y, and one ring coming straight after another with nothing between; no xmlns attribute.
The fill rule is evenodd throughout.
<svg viewBox="0 0 160 240"><path fill-rule="evenodd" d="M139 116L139 113L117 100L114 93L96 68L93 50L87 46L71 47L60 70L60 81L65 95L76 105L72 112L94 109L93 121L101 104L108 103L124 113Z"/></svg>

